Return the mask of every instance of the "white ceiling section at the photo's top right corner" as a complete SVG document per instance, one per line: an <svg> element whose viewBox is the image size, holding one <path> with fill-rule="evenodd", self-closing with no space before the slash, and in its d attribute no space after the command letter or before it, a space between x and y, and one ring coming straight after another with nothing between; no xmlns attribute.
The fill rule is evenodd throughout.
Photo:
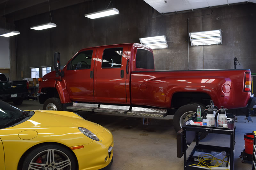
<svg viewBox="0 0 256 170"><path fill-rule="evenodd" d="M256 0L144 0L159 13L186 11L226 4L253 2Z"/></svg>

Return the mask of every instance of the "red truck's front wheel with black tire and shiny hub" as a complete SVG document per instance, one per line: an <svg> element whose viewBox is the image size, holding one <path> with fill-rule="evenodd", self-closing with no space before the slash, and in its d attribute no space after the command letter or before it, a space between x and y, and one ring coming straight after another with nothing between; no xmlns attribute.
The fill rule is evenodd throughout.
<svg viewBox="0 0 256 170"><path fill-rule="evenodd" d="M45 100L43 110L63 110L63 105L59 98L52 97Z"/></svg>

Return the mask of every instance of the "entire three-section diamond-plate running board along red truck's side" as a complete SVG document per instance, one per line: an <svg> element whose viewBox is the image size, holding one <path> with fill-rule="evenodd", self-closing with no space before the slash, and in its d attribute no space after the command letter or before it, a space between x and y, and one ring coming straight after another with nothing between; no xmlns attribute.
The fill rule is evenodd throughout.
<svg viewBox="0 0 256 170"><path fill-rule="evenodd" d="M116 106L116 105L99 105L99 104L76 103L76 102L73 102L73 105L68 106L67 109L113 113L113 114L119 114L119 115L132 115L137 117L148 117L148 118L155 118L155 117L163 118L167 115L167 109Z"/></svg>

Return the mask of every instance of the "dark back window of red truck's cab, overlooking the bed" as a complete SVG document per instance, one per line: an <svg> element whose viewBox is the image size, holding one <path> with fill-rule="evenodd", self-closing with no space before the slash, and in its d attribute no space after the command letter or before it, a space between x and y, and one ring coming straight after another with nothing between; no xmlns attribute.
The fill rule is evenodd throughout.
<svg viewBox="0 0 256 170"><path fill-rule="evenodd" d="M137 49L136 68L154 69L153 53L145 49Z"/></svg>

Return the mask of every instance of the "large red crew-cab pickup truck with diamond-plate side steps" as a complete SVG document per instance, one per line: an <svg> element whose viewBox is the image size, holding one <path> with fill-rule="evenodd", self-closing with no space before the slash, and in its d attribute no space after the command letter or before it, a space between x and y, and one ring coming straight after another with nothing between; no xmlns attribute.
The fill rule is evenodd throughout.
<svg viewBox="0 0 256 170"><path fill-rule="evenodd" d="M39 82L44 110L85 110L138 117L174 115L175 130L213 100L228 109L253 108L251 72L155 71L152 49L138 43L84 48ZM249 109L248 109L249 110Z"/></svg>

